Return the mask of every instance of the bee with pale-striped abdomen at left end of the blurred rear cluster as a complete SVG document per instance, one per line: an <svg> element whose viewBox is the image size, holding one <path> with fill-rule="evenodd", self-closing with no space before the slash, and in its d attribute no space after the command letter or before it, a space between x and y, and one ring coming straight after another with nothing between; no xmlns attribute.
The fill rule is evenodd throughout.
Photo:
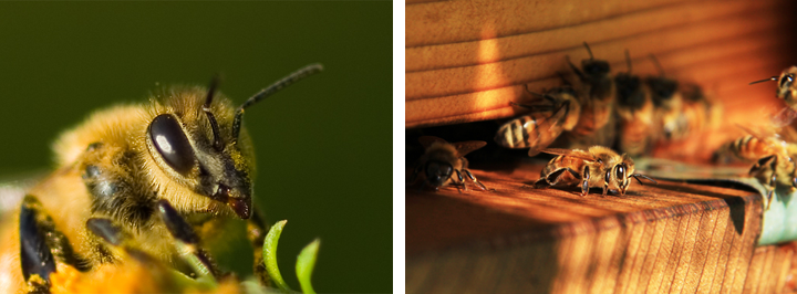
<svg viewBox="0 0 797 294"><path fill-rule="evenodd" d="M581 103L572 87L556 87L541 96L550 105L515 104L530 108L532 113L511 119L498 128L495 141L506 148L529 148L529 156L548 147L563 130L571 130L578 123ZM552 111L550 108L553 107Z"/></svg>

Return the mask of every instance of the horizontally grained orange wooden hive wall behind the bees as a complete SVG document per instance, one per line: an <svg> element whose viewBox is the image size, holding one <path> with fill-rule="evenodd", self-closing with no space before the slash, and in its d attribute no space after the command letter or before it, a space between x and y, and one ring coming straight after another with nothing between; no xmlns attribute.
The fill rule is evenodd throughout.
<svg viewBox="0 0 797 294"><path fill-rule="evenodd" d="M406 6L405 127L507 118L522 109L524 87L559 86L566 56L608 60L625 71L694 82L735 115L777 105L774 85L751 81L778 74L795 59L787 1L439 1Z"/></svg>

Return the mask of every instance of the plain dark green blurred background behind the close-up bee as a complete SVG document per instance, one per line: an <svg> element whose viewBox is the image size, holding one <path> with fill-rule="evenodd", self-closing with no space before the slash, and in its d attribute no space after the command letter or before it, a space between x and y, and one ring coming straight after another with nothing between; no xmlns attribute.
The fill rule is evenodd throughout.
<svg viewBox="0 0 797 294"><path fill-rule="evenodd" d="M392 291L391 2L2 2L0 177L52 168L51 141L156 85L237 104L292 71L325 71L249 108L256 196L287 219L282 275L314 238L319 292Z"/></svg>

